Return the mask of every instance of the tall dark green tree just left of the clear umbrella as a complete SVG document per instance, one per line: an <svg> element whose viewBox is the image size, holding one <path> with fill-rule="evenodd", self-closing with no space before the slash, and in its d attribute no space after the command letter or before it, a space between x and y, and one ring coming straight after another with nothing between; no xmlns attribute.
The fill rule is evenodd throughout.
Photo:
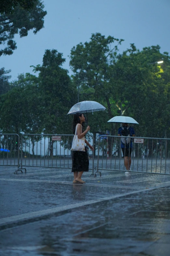
<svg viewBox="0 0 170 256"><path fill-rule="evenodd" d="M46 50L42 66L34 67L34 71L39 72L44 133L70 134L72 130L72 117L67 113L76 103L77 94L68 71L62 68L64 61L57 50Z"/></svg>

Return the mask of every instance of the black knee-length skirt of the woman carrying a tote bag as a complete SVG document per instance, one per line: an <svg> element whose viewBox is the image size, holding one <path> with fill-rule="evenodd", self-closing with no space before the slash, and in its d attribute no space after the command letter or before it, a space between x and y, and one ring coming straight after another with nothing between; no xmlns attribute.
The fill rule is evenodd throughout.
<svg viewBox="0 0 170 256"><path fill-rule="evenodd" d="M82 131L83 132L83 131ZM72 171L71 172L88 172L89 157L87 149L84 151L72 151Z"/></svg>

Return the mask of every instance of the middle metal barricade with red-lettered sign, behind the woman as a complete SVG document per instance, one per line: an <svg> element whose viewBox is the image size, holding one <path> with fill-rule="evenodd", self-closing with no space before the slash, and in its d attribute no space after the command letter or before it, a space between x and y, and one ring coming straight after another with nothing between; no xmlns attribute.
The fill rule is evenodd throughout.
<svg viewBox="0 0 170 256"><path fill-rule="evenodd" d="M48 167L72 168L71 145L72 134L23 134L21 136L21 166L23 167ZM87 141L93 143L93 136L86 135ZM88 148L89 169L94 175L94 152Z"/></svg>

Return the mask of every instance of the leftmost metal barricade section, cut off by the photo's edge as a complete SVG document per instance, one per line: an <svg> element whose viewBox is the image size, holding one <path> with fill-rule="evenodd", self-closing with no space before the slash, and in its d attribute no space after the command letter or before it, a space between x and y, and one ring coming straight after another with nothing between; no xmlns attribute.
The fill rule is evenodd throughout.
<svg viewBox="0 0 170 256"><path fill-rule="evenodd" d="M20 137L18 134L0 134L0 165L17 166L20 159Z"/></svg>

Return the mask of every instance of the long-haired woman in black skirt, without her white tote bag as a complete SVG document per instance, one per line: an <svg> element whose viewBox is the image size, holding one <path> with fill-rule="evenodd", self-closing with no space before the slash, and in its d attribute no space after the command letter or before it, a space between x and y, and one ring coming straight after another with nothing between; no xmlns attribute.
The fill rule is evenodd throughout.
<svg viewBox="0 0 170 256"><path fill-rule="evenodd" d="M73 133L75 134L76 126L77 127L77 135L78 139L82 139L86 133L90 130L90 126L84 130L83 124L85 122L85 117L82 113L76 113L74 115L73 120ZM89 142L85 139L85 143L90 147L93 151L94 148L89 144ZM73 183L86 183L81 179L83 172L89 171L89 158L87 155L87 149L85 147L84 151L73 151L72 155L72 171L74 173L74 180Z"/></svg>

